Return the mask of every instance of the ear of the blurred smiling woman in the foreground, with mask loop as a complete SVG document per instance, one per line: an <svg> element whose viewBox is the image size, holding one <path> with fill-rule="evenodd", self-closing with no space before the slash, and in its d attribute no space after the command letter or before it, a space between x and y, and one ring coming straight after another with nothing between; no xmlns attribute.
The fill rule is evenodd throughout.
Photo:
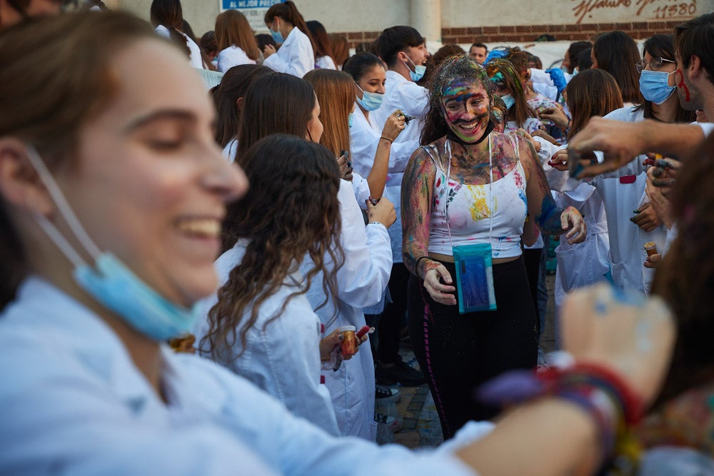
<svg viewBox="0 0 714 476"><path fill-rule="evenodd" d="M35 168L27 147L15 138L0 138L0 196L9 205L50 216L54 203Z"/></svg>

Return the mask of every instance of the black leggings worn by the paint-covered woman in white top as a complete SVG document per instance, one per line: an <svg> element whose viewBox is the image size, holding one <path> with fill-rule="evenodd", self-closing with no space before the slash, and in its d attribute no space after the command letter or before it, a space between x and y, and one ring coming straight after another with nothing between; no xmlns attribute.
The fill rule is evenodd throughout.
<svg viewBox="0 0 714 476"><path fill-rule="evenodd" d="M453 263L443 263L456 283ZM436 410L444 439L469 420L488 420L497 408L477 402L478 385L506 370L535 367L538 333L523 258L493 265L495 311L459 315L458 305L436 303L423 280L408 288L409 333Z"/></svg>

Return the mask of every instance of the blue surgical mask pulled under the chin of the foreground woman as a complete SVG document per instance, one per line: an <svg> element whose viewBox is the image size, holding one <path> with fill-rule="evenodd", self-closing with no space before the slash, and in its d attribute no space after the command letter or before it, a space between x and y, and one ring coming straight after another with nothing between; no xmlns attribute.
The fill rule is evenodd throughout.
<svg viewBox="0 0 714 476"><path fill-rule="evenodd" d="M149 338L168 340L191 331L201 315L198 304L188 309L171 302L144 283L113 254L99 251L37 151L29 144L26 150L30 163L49 191L59 213L79 243L94 258L94 265L86 263L53 223L43 215L35 216L47 236L74 264L72 275L76 283L98 303Z"/></svg>

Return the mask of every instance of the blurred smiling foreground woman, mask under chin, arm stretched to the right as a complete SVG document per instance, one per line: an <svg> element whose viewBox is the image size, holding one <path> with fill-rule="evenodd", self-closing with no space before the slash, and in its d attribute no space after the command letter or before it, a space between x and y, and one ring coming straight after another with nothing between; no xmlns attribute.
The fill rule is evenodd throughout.
<svg viewBox="0 0 714 476"><path fill-rule="evenodd" d="M567 400L566 376L594 375L584 368L484 440L474 424L458 450L413 453L331 437L209 360L171 353L162 341L190 329L216 287L225 203L247 189L213 140L203 83L149 24L114 12L5 31L0 64L0 473L540 476L602 459L612 427ZM575 357L648 401L667 313L603 289L571 310ZM635 333L643 324L651 334ZM635 335L651 355L633 351Z"/></svg>

